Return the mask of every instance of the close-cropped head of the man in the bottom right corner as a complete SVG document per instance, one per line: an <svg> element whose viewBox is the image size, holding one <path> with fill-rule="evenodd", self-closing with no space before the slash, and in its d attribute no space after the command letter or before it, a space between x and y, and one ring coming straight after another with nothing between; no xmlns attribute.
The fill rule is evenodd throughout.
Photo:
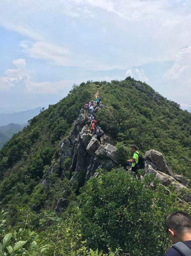
<svg viewBox="0 0 191 256"><path fill-rule="evenodd" d="M171 213L166 225L173 243L191 240L191 216L188 213Z"/></svg>

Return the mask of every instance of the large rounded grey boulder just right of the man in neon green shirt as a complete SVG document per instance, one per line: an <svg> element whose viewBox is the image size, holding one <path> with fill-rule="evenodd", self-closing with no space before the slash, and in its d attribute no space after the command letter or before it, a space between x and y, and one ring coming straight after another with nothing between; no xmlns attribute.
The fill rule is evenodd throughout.
<svg viewBox="0 0 191 256"><path fill-rule="evenodd" d="M146 161L148 160L148 161L152 162L157 167L158 171L164 172L164 173L172 176L173 178L175 178L170 166L167 164L166 159L160 152L158 152L154 149L148 150L144 154L144 159Z"/></svg>

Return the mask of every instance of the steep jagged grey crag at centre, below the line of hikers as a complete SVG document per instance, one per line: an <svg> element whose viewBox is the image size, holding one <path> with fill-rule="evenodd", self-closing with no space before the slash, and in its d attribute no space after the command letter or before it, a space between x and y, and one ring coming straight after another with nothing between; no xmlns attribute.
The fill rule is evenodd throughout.
<svg viewBox="0 0 191 256"><path fill-rule="evenodd" d="M93 115L105 106L98 107L93 103ZM71 183L77 180L78 186L93 177L98 168L110 171L115 164L119 164L117 148L113 146L111 139L107 135L101 137L101 144L94 134L91 134L90 119L80 111L77 121L73 123L70 135L60 143L60 160L62 173L64 175L64 162L71 159L71 172L74 173Z"/></svg>

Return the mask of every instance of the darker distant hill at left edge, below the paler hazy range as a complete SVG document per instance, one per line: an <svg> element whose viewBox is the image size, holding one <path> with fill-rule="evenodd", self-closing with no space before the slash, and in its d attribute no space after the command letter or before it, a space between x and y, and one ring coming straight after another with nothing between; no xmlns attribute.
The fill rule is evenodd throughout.
<svg viewBox="0 0 191 256"><path fill-rule="evenodd" d="M20 132L27 124L8 124L0 127L0 149L13 136Z"/></svg>

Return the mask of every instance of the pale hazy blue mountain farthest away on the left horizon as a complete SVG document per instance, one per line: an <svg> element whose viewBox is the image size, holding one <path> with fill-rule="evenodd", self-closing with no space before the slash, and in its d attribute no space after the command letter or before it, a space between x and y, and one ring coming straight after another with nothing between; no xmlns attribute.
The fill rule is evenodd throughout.
<svg viewBox="0 0 191 256"><path fill-rule="evenodd" d="M12 114L0 114L0 126L7 124L26 124L28 120L38 115L41 107Z"/></svg>

